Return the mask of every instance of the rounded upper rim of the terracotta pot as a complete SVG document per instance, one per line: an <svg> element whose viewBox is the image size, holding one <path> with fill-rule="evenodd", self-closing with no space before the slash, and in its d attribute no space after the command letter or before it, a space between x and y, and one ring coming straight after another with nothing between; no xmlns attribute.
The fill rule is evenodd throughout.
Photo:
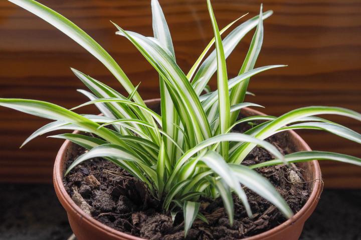
<svg viewBox="0 0 361 240"><path fill-rule="evenodd" d="M158 100L159 100L159 98L154 98L154 99L145 100L144 102L151 103L151 102L156 102ZM244 109L251 110L253 112L256 112L257 114L264 115L264 113L254 110L254 109L250 109L248 107L246 107ZM79 132L79 131L74 131L74 132ZM311 148L308 146L308 144L295 131L288 130L288 132L294 137L294 139L296 141L299 142L299 145L302 145L306 150L311 150ZM101 223L100 221L97 221L92 216L86 214L83 210L81 210L77 204L75 204L75 202L72 200L72 198L67 193L67 191L64 187L63 169L61 168L62 160L65 159L66 149L68 148L68 146L70 144L71 144L71 141L69 141L69 140L65 140L65 142L62 144L61 148L59 149L59 153L61 153L61 154L57 154L55 163L54 163L54 169L53 169L53 183L54 183L54 187L56 189L57 196L59 199L60 198L65 199L65 200L61 201L61 203L63 204L63 207L65 209L71 208L74 212L76 212L79 216L82 217L82 220L87 221L88 224L93 225L94 228L98 228L101 231L105 230L107 232L107 234L110 234L114 237L123 237L123 238L127 238L127 239L132 239L132 240L146 240L146 239L138 237L138 236L130 235L130 234L115 230L114 228L107 226L107 225ZM323 184L322 180L321 180L321 170L320 170L318 161L312 160L311 162L313 163L312 170L315 172L315 175L314 175L315 179L313 181L313 184L311 185L311 187L312 187L311 194L308 197L306 203L302 206L302 208L298 212L296 212L290 219L287 219L285 222L279 224L278 226L273 227L260 234L247 237L247 239L256 240L256 239L263 239L266 236L270 237L270 236L276 234L278 231L281 231L281 230L287 228L289 225L292 225L295 221L297 221L303 217L308 217L306 215L309 213L309 209L313 206L314 202L318 201L319 196L322 191L322 184Z"/></svg>

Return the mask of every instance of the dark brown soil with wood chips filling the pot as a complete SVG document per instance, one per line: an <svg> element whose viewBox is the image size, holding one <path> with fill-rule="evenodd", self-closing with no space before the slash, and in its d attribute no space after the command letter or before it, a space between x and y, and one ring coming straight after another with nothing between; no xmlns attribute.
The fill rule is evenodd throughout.
<svg viewBox="0 0 361 240"><path fill-rule="evenodd" d="M247 128L245 124L235 131ZM284 154L292 152L292 147L285 147L287 139L283 134L267 140ZM78 147L67 166L84 151ZM270 159L272 155L269 152L256 147L243 164ZM299 211L307 201L310 193L308 183L302 177L302 169L296 165L269 166L257 171L271 181L293 212ZM178 213L173 222L170 213L162 212L161 202L148 194L142 182L109 161L94 158L79 164L64 178L64 185L85 212L112 228L146 239L184 239L183 214ZM247 216L237 196L233 196L233 225L229 224L221 198L201 198L201 212L209 224L196 219L186 239L239 239L264 232L286 220L270 202L248 188L245 191L254 213L252 218Z"/></svg>

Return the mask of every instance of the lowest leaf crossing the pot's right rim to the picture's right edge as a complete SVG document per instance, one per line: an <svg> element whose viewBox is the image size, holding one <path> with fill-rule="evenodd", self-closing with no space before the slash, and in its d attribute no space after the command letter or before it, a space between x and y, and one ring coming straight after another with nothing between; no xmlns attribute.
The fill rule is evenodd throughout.
<svg viewBox="0 0 361 240"><path fill-rule="evenodd" d="M328 151L298 151L284 156L287 162L303 162L311 160L333 160L345 163L351 163L361 166L361 158L346 154L328 152ZM279 159L269 160L249 166L250 168L258 168L264 166L272 166L282 164Z"/></svg>

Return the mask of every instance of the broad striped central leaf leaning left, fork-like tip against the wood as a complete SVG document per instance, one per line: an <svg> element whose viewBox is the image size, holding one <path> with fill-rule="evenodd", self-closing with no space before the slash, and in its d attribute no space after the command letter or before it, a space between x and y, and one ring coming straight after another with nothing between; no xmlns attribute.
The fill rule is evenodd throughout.
<svg viewBox="0 0 361 240"><path fill-rule="evenodd" d="M210 137L209 123L198 95L174 60L159 45L146 37L135 32L124 31L116 24L115 26L119 29L117 34L125 35L164 79L173 104L179 116L182 116L180 119L184 120L183 123L189 135L192 136L194 132L198 142Z"/></svg>

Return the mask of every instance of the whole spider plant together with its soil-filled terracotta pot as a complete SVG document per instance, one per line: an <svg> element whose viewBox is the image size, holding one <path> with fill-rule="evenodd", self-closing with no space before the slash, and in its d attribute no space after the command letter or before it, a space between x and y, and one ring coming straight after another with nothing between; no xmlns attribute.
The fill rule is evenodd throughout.
<svg viewBox="0 0 361 240"><path fill-rule="evenodd" d="M169 29L157 0L151 1L154 37L113 23L159 73L160 99L143 101L114 59L70 20L34 0L10 0L53 24L98 58L128 92L124 96L76 70L91 92L73 109L53 103L0 98L0 105L55 120L26 141L58 129L76 130L54 166L54 186L78 239L297 239L321 193L316 160L361 165L361 159L312 151L292 130L326 130L361 142L361 135L319 114L361 120L355 111L310 106L279 117L244 102L263 41L262 11L221 34L210 0L215 37L186 74L175 61ZM239 75L229 79L226 58L255 28ZM204 60L215 44L215 50ZM217 71L218 89L207 86ZM202 94L206 91L205 94ZM102 114L73 110L95 104ZM277 133L277 134L276 134ZM276 135L275 135L276 134ZM295 164L296 163L296 164Z"/></svg>

